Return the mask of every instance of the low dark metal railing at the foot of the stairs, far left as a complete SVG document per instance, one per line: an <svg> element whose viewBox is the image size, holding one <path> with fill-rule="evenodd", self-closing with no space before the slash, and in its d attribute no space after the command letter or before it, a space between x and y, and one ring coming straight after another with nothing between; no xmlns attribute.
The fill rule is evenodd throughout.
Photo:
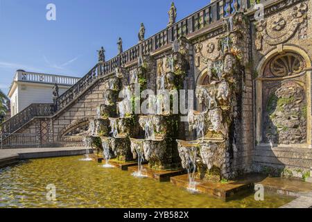
<svg viewBox="0 0 312 222"><path fill-rule="evenodd" d="M0 147L3 148L39 148L40 139L35 133L0 134Z"/></svg>

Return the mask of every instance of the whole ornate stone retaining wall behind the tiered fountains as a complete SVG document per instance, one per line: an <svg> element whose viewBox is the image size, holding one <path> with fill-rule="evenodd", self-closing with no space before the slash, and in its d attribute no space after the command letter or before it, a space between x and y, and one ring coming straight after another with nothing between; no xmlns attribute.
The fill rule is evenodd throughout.
<svg viewBox="0 0 312 222"><path fill-rule="evenodd" d="M204 105L218 102L224 117L221 121L230 119L229 126L225 127L227 130L210 130L220 131L221 134L227 132L223 137L225 142L218 146L224 149L207 142L207 146L200 150L206 157L204 164L214 162L218 165L222 162L225 167L220 169L220 173L227 177L250 171L270 171L300 177L298 172L304 174L311 167L311 3L312 0L265 1L265 17L257 21L252 9L245 11L245 15L243 12L236 13L237 5L221 10L220 20L209 17L207 21L198 20L198 26L191 19L187 21L193 31L182 37L188 42L184 52L189 64L183 78L183 88L196 89L196 86L202 85L210 90L211 86L217 87L208 91L210 97L214 97L212 92L218 92L215 95L218 101L211 98L205 101L205 96L198 93L198 99L194 95L195 108L202 112ZM234 16L223 19L223 15L228 14ZM209 13L207 11L202 15L206 17ZM144 46L131 49L129 54L114 58L110 64L101 67L105 69L103 73L113 74L112 70L118 67L115 72L128 69L132 75L137 69L135 56L146 53L149 55L144 58L149 64L146 87L158 89L159 77L163 74L166 74L165 81L170 87L173 76L167 69L170 67L170 56L175 53L168 38L177 37L178 31L174 31L175 27L172 27L167 33L159 34L162 37L154 37L146 44L143 42ZM164 37L167 34L168 37ZM129 62L127 56L135 59ZM121 60L128 62L123 62L121 66ZM222 71L218 72L220 67L216 64L220 61L224 65ZM236 75L232 80L228 78L231 75L227 74L234 65L239 65L239 68L232 72ZM92 71L94 75L86 78L96 79L95 70ZM225 76L218 76L218 73ZM110 83L103 77L90 81L90 84L92 87L69 105L66 103L64 110L51 118L35 118L17 133L44 130L44 133L40 133L40 139L46 146L82 146L81 133L87 130L90 119L96 116L96 108L103 105L104 96L108 100L110 96L115 96L106 90ZM234 88L238 89L229 90L236 92L235 96L227 94L226 84L235 85ZM231 98L228 110L225 109L227 96ZM110 117L110 110L106 111ZM218 122L218 119L214 121ZM179 132L180 139L194 139L194 133L190 132L187 123L181 124ZM205 136L220 139L211 132ZM182 146L180 150L189 155L189 151ZM180 157L182 165L187 165L187 158L183 158L184 155Z"/></svg>

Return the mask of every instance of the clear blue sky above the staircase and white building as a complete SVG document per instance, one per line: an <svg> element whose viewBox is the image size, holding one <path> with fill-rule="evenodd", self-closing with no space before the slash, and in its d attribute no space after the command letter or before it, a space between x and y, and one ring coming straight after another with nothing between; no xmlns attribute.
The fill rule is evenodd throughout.
<svg viewBox="0 0 312 222"><path fill-rule="evenodd" d="M137 44L141 22L146 37L168 23L172 0L0 0L0 89L8 92L17 69L84 76L97 62ZM46 5L56 6L56 21L46 20ZM205 0L175 0L177 19L206 6Z"/></svg>

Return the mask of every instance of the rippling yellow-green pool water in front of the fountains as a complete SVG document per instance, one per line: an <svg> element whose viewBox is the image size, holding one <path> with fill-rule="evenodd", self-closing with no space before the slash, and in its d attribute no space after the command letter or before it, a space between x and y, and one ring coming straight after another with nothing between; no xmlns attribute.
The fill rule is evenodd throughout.
<svg viewBox="0 0 312 222"><path fill-rule="evenodd" d="M266 194L265 201L250 195L225 203L81 158L29 160L0 169L0 207L280 207L292 200ZM46 200L49 184L56 187L56 201Z"/></svg>

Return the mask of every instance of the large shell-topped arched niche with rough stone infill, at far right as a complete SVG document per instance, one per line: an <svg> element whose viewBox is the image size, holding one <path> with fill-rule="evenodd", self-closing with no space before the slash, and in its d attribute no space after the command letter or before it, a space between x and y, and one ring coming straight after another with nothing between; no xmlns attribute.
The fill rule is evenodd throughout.
<svg viewBox="0 0 312 222"><path fill-rule="evenodd" d="M257 67L257 143L311 147L311 60L295 46L282 49Z"/></svg>

